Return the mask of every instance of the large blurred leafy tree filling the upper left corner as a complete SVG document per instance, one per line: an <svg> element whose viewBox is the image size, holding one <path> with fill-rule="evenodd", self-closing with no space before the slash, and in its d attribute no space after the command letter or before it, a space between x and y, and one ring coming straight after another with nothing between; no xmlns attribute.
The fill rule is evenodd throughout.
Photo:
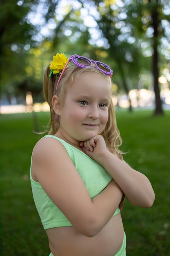
<svg viewBox="0 0 170 256"><path fill-rule="evenodd" d="M50 15L53 14L57 6L57 2L53 4L49 4L49 2L51 1L46 1L47 8L43 17L33 17L34 10L41 6L40 0L1 0L0 92L4 90L7 95L9 94L9 103L10 94L15 91L18 85L19 87L16 93L25 93L36 80L35 76L32 76L30 80L30 76L26 72L26 67L29 62L28 60L31 58L29 50L39 47L45 37L42 35L42 37L39 36L38 38L37 36L38 32L39 34L42 32L40 29L42 21L46 25L50 19ZM33 18L36 22L30 21Z"/></svg>

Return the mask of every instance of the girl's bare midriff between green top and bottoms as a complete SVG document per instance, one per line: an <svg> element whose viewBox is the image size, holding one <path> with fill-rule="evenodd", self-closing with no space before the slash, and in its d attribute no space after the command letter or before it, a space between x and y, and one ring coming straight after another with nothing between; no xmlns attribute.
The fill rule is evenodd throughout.
<svg viewBox="0 0 170 256"><path fill-rule="evenodd" d="M123 242L124 227L119 213L93 237L79 234L74 227L47 229L46 234L54 256L113 256Z"/></svg>

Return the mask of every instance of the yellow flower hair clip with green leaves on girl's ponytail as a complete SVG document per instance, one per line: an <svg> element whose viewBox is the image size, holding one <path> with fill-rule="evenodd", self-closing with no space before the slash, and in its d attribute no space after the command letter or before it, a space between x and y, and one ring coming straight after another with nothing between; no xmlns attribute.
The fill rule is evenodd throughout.
<svg viewBox="0 0 170 256"><path fill-rule="evenodd" d="M64 69L67 61L68 58L66 58L64 53L57 53L55 56L53 56L53 61L49 65L49 69L51 70L49 78L52 74L60 73Z"/></svg>

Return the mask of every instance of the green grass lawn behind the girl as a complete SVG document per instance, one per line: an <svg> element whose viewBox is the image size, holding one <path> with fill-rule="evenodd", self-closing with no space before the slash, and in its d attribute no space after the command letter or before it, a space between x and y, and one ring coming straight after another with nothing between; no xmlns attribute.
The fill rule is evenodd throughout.
<svg viewBox="0 0 170 256"><path fill-rule="evenodd" d="M38 122L36 121L38 118ZM48 240L33 202L31 152L49 113L0 115L0 255L48 256ZM124 159L151 181L156 199L149 209L125 201L122 211L127 256L170 256L170 111L117 111L128 152Z"/></svg>

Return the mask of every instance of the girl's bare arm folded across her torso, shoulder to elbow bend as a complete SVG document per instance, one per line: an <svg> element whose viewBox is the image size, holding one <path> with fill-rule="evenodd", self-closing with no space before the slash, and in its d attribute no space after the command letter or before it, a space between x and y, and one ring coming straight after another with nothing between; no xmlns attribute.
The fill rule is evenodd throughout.
<svg viewBox="0 0 170 256"><path fill-rule="evenodd" d="M123 196L112 180L91 200L66 149L49 137L38 141L33 150L32 177L40 182L73 227L89 237L95 236L112 218Z"/></svg>

